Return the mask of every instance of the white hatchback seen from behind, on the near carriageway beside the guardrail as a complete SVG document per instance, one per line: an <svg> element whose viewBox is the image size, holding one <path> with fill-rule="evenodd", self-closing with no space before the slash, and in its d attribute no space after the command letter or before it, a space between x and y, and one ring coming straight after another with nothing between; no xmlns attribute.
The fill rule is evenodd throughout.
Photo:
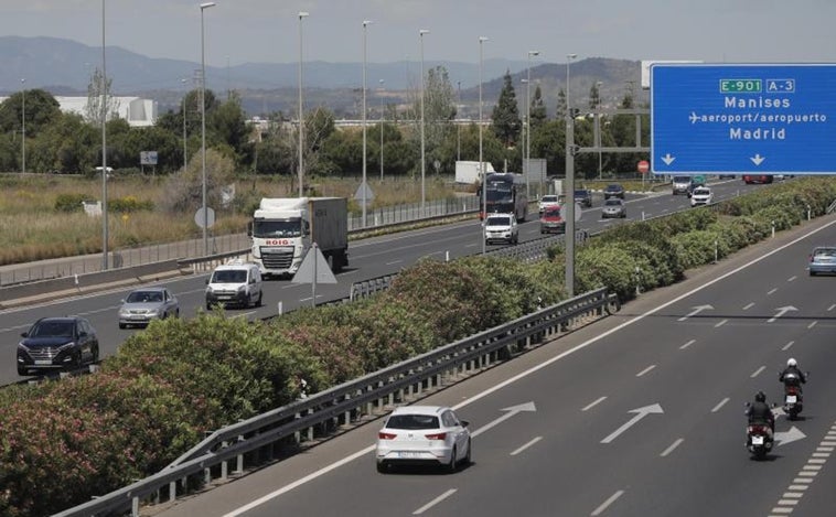
<svg viewBox="0 0 836 517"><path fill-rule="evenodd" d="M377 472L393 465L440 465L450 472L471 462L468 421L443 406L401 406L377 433Z"/></svg>

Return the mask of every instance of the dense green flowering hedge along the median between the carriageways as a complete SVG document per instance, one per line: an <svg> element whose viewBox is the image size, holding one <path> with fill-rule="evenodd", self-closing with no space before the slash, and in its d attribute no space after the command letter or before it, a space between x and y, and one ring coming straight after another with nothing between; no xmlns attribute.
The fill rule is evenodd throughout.
<svg viewBox="0 0 836 517"><path fill-rule="evenodd" d="M577 249L577 292L622 301L821 216L836 180L797 179L604 231ZM716 254L716 255L715 255ZM0 390L0 515L49 515L164 467L219 427L565 299L560 248L526 265L424 260L350 304L247 323L222 312L153 322L95 375Z"/></svg>

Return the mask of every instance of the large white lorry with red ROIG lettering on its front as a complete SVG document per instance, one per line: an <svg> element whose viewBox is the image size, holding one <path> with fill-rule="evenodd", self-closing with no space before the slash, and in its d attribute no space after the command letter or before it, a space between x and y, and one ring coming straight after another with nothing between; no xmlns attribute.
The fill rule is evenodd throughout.
<svg viewBox="0 0 836 517"><path fill-rule="evenodd" d="M292 277L317 243L332 271L349 265L344 197L264 197L250 224L253 261L265 277Z"/></svg>

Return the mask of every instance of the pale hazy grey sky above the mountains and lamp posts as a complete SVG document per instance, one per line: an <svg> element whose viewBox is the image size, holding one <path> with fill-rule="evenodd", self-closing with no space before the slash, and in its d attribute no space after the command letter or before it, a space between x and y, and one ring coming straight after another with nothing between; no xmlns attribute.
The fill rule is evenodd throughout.
<svg viewBox="0 0 836 517"><path fill-rule="evenodd" d="M107 45L199 62L200 1L107 0ZM216 0L206 63L566 62L566 54L728 63L836 62L836 0ZM101 0L0 0L0 34L101 44Z"/></svg>

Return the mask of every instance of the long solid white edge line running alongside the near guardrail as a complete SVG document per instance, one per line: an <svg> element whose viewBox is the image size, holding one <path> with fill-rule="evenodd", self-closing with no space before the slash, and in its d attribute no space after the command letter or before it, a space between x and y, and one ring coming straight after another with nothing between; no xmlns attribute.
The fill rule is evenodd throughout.
<svg viewBox="0 0 836 517"><path fill-rule="evenodd" d="M452 407L452 409L453 410L458 410L458 409L464 408L467 406L470 406L471 403L475 402L476 400L481 400L481 399L483 399L485 397L489 397L489 396L493 395L494 392L496 392L496 391L505 388L506 386L510 386L510 385L516 383L519 379L528 377L529 375L532 375L532 374L534 374L536 371L539 371L540 369L546 368L546 367L550 366L551 364L557 363L558 360L560 360L560 359L562 359L562 358L571 355L571 354L575 354L576 352L582 351L583 348L587 348L588 346L590 346L590 345L592 345L594 343L598 343L599 341L601 341L601 340L603 340L605 337L609 337L609 336L611 336L613 334L617 334L617 333L621 332L623 328L626 328L630 325L634 325L634 324L636 324L636 323L645 320L646 317L652 316L652 315L656 314L657 312L663 311L663 310L667 309L668 306L671 306L671 305L673 305L675 303L678 303L682 300L685 300L686 298L692 297L692 295L694 295L694 294L703 291L704 289L708 289L709 287L714 286L715 283L721 282L721 281L726 280L727 278L729 278L729 277L731 277L733 274L739 273L740 271L744 270L746 268L749 268L749 267L751 267L751 266L753 266L753 265L755 265L755 263L758 263L758 262L760 262L762 260L765 260L767 258L769 258L769 257L771 257L771 256L773 256L773 255L775 255L775 254L778 254L780 251L783 251L784 249L786 249L786 248L789 248L791 246L794 246L794 245L796 245L796 244L799 244L799 243L801 243L801 241L803 241L805 239L808 239L811 236L813 236L813 235L815 235L815 234L817 234L819 231L824 231L825 229L829 228L833 225L836 225L836 220L833 220L833 222L827 223L826 225L824 225L824 226L822 226L819 228L816 228L816 229L814 229L812 231L808 231L808 233L802 235L801 237L799 237L796 239L793 239L793 240L786 243L785 245L780 246L780 247L773 249L772 251L763 254L763 255L759 256L758 258L752 259L752 260L743 263L742 266L738 266L737 268L732 269L731 271L728 271L728 272L726 272L726 273L717 277L714 280L707 281L706 283L703 283L699 287L692 289L690 291L684 292L684 293L679 294L678 297L674 298L673 300L668 300L667 302L662 303L661 305L656 305L655 308L651 309L650 311L647 311L647 312L645 312L643 314L639 314L637 316L633 317L632 320L628 320L628 321L625 321L623 323L620 323L620 324L615 325L614 327L610 328L609 331L602 332L601 334L598 334L594 337L590 337L589 340L585 341L583 343L580 343L580 344L576 345L575 347L569 348L568 351L564 351L560 354L551 357L550 359L544 360L543 363L539 363L538 365L533 366L533 367L528 368L525 371L521 371L519 374L517 374L517 375L515 375L515 376L513 376L513 377L511 377L508 379L505 379L504 381L502 381L502 383L500 383L497 385L494 385L491 388L489 388L489 389L486 389L486 390L484 390L484 391L482 391L480 394L476 394L476 395L470 397L468 400L464 400L462 402L457 403L455 406ZM266 503L266 502L268 502L270 499L274 499L274 498L276 498L276 497L278 497L278 496L280 496L280 495L282 495L282 494L285 494L287 492L290 492L291 489L296 488L297 486L303 485L304 483L308 483L309 481L312 481L312 480L314 480L314 478L317 478L317 477L319 477L321 475L324 475L324 474L326 474L326 473L329 473L329 472L331 472L331 471L333 471L333 470L335 470L335 468L337 468L337 467L340 467L340 466L342 466L342 465L344 465L344 464L346 464L349 462L352 462L352 461L354 461L354 460L356 460L358 457L362 457L364 454L368 454L369 452L372 452L374 450L375 450L375 445L374 444L368 445L367 448L365 448L365 449L363 449L361 451L357 451L357 452L355 452L355 453L353 453L353 454L351 454L351 455L349 455L346 457L343 457L342 460L337 460L336 462L334 462L334 463L332 463L330 465L326 465L326 466L320 468L319 471L313 472L313 473L311 473L311 474L302 477L301 480L298 480L298 481L296 481L296 482L293 482L293 483L291 483L289 485L286 485L286 486L281 487L281 488L279 488L279 489L277 489L275 492L271 492L270 494L267 494L267 495L260 497L259 499L256 499L256 500L247 504L246 506L242 506L240 508L238 508L236 510L233 510L229 514L224 515L224 517L236 517L236 516L238 516L238 515L240 515L240 514L243 514L245 511L248 511L248 510L250 510L250 509L253 509L253 508L255 508L257 506L262 505L264 503ZM623 494L623 491L620 492L620 493L617 493L617 495L613 496L613 497L618 498L619 496L621 496L621 494Z"/></svg>

